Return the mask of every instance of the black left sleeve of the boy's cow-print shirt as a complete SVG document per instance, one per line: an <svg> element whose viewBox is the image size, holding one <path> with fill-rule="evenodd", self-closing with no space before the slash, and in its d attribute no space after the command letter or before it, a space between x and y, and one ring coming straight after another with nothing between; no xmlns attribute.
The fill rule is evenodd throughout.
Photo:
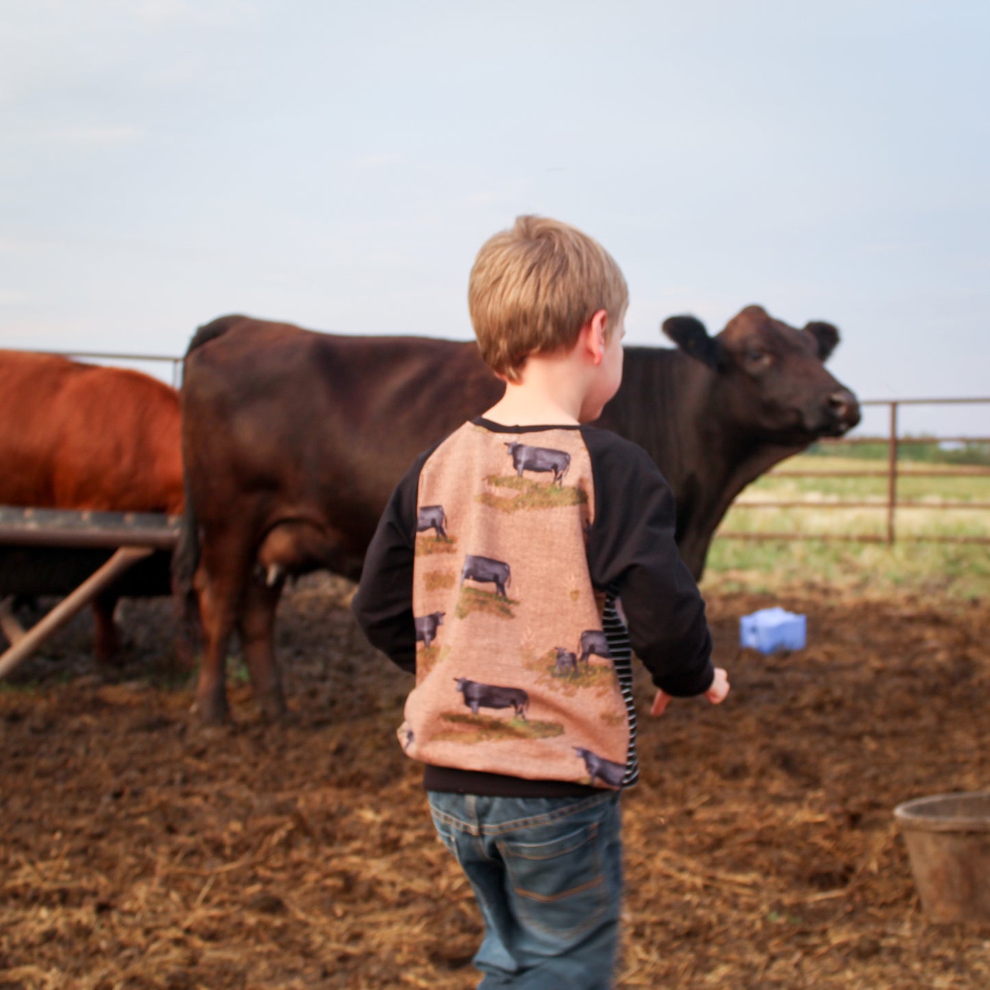
<svg viewBox="0 0 990 990"><path fill-rule="evenodd" d="M360 583L350 604L368 641L410 673L416 672L416 501L420 471L431 452L432 449L416 459L392 492L364 555Z"/></svg>

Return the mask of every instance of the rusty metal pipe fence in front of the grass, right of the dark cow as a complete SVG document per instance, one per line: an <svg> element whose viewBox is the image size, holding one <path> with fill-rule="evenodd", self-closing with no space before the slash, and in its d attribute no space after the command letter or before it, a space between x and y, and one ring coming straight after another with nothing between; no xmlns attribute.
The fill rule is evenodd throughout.
<svg viewBox="0 0 990 990"><path fill-rule="evenodd" d="M763 477L770 478L886 478L886 497L883 499L854 499L854 500L764 500L740 499L733 503L733 509L875 509L886 514L886 533L884 536L875 534L835 534L835 533L767 533L720 531L717 536L727 540L822 540L842 541L851 543L893 545L898 540L904 543L947 543L947 544L987 544L990 537L979 536L948 536L932 534L924 536L902 536L897 531L897 513L906 509L929 509L952 511L959 509L986 511L990 510L990 501L949 501L942 499L938 502L902 499L898 495L900 483L906 478L987 478L987 491L990 493L990 467L981 465L956 464L946 465L938 471L904 467L900 455L905 447L912 445L942 445L942 444L974 444L990 446L990 437L903 437L900 435L899 413L904 406L945 406L945 405L990 405L990 398L966 399L868 399L860 406L886 406L889 409L888 433L885 437L849 437L823 439L819 443L830 448L855 445L886 446L886 468L883 470L866 468L862 471L842 470L797 470L782 467L771 470Z"/></svg>

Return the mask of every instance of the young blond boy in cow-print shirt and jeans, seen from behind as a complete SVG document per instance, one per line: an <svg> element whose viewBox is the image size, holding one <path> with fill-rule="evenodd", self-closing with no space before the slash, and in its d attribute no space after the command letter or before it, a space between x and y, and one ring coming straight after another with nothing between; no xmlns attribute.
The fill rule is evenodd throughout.
<svg viewBox="0 0 990 990"><path fill-rule="evenodd" d="M423 453L368 548L353 610L416 686L399 730L485 923L489 987L612 985L619 793L636 782L631 645L670 696L713 669L674 504L639 446L581 424L622 380L626 281L565 224L520 217L468 303L504 397ZM620 618L622 598L629 632Z"/></svg>

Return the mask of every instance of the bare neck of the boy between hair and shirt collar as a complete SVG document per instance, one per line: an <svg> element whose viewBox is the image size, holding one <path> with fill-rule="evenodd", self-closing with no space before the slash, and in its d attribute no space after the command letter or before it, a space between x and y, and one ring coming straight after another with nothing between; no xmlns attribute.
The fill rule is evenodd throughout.
<svg viewBox="0 0 990 990"><path fill-rule="evenodd" d="M518 382L506 382L505 395L484 418L505 427L577 426L584 402L581 375L566 358L530 357Z"/></svg>

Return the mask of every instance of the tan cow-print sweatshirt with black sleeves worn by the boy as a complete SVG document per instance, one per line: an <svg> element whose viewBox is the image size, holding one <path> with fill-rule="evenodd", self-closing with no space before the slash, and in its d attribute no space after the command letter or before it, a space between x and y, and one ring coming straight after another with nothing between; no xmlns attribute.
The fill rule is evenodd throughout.
<svg viewBox="0 0 990 990"><path fill-rule="evenodd" d="M416 674L398 735L430 790L630 786L631 647L671 695L714 676L670 488L641 447L593 427L479 417L423 453L379 522L353 611Z"/></svg>

